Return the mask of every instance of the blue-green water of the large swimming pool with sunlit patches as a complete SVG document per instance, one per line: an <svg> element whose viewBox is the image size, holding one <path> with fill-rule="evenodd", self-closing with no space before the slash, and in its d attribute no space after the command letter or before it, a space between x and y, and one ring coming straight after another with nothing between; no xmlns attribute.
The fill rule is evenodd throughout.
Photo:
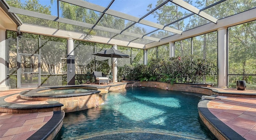
<svg viewBox="0 0 256 140"><path fill-rule="evenodd" d="M200 97L192 94L148 87L110 92L103 105L66 113L55 139L92 140L94 137L98 140L103 138L100 134L111 137L128 132L166 134L166 138L173 134L183 139L213 139L211 132L200 123L197 109ZM114 139L118 140L108 138ZM154 140L150 136L145 139Z"/></svg>

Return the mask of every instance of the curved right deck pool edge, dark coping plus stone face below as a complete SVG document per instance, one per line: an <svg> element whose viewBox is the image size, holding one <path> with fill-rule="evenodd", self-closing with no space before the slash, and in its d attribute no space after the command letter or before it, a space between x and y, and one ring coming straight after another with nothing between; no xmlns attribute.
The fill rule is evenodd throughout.
<svg viewBox="0 0 256 140"><path fill-rule="evenodd" d="M207 107L209 101L210 100L208 99L204 99L198 103L198 113L201 120L206 124L210 131L221 140L246 140L210 112Z"/></svg>

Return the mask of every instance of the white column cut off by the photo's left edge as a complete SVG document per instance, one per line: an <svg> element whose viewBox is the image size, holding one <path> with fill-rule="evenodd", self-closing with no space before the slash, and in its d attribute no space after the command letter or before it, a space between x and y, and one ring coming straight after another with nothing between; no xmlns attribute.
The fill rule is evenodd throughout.
<svg viewBox="0 0 256 140"><path fill-rule="evenodd" d="M6 86L6 39L5 30L0 29L0 91L8 90Z"/></svg>

